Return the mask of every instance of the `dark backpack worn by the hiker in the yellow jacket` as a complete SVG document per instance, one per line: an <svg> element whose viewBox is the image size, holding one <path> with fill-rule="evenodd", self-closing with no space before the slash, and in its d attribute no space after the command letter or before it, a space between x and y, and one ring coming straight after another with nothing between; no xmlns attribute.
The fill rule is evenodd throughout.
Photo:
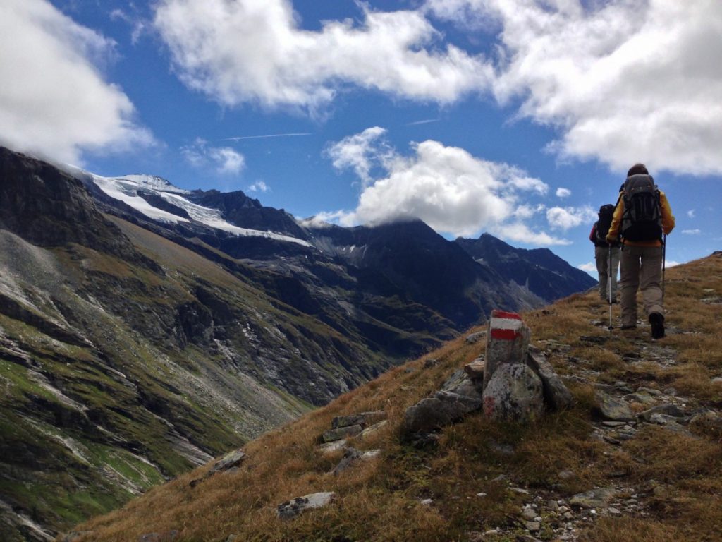
<svg viewBox="0 0 722 542"><path fill-rule="evenodd" d="M662 238L659 190L650 175L627 177L622 194L622 238L627 241L656 241Z"/></svg>

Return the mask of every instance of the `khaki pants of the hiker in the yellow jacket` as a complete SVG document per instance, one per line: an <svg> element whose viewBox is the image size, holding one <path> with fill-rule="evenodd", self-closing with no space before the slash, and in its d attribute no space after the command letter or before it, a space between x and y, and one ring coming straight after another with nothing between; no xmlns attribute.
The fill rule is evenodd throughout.
<svg viewBox="0 0 722 542"><path fill-rule="evenodd" d="M622 325L637 324L637 290L641 289L644 311L664 314L662 309L662 247L624 246L619 286L621 288Z"/></svg>

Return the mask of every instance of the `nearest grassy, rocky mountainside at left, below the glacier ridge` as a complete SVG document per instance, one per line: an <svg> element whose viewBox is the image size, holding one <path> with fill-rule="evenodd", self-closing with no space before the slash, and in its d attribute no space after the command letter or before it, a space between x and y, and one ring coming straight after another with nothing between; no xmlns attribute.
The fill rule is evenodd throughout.
<svg viewBox="0 0 722 542"><path fill-rule="evenodd" d="M37 160L0 163L1 539L116 507L389 366L243 264L104 217Z"/></svg>

